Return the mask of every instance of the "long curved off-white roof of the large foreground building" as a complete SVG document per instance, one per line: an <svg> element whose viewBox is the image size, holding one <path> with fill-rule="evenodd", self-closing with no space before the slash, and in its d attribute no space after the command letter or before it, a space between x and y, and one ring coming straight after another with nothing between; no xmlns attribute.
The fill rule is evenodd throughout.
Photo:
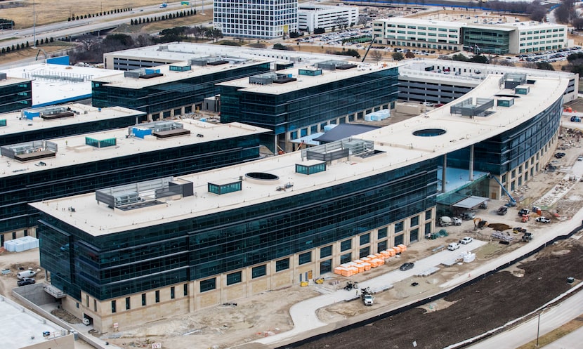
<svg viewBox="0 0 583 349"><path fill-rule="evenodd" d="M497 94L513 94L513 91L499 87L500 79L499 75L487 77L480 86L459 100L494 98ZM166 205L152 206L148 209L114 211L107 208L105 204L96 204L94 193L37 202L32 205L91 235L107 235L308 193L315 189L350 182L355 178L365 178L375 173L391 171L426 159L440 157L503 133L519 124L530 122L533 115L542 112L551 103L559 100L568 85L568 79L564 77L535 77L533 79L536 82L530 85L528 95L520 95L511 107L496 107L494 103L494 107L490 109L494 114L488 117L470 119L450 114L450 105L453 104L450 103L450 105L436 108L398 124L362 133L355 138L374 141L375 150L383 153L365 159L351 157L341 162L334 162L327 171L310 176L295 172L295 165L302 163L301 152L292 152L214 171L181 176L194 183L197 195L169 201ZM413 131L433 128L443 129L446 132L434 137L412 135ZM270 173L277 176L279 180L257 183L245 178L246 173L250 172ZM207 183L223 180L237 181L240 178L243 178L240 192L214 195L207 190ZM287 190L277 190L277 187L286 186L288 183L293 186ZM74 207L75 212L63 212L59 207Z"/></svg>

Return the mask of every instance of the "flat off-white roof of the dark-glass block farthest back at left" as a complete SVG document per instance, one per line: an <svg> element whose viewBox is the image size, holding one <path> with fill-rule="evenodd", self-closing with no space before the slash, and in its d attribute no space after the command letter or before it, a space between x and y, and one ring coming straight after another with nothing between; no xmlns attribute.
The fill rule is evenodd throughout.
<svg viewBox="0 0 583 349"><path fill-rule="evenodd" d="M260 65L262 63L271 62L272 60L268 59L260 59L254 58L253 60L244 60L243 62L237 62L235 64L232 63L225 63L221 65L192 65L190 70L185 72L174 71L170 70L173 63L169 65L158 65L157 67L153 68L146 68L154 70L156 73L162 74L157 77L152 77L152 79L140 79L135 77L125 77L125 72L116 71L115 74L93 79L93 81L99 81L103 83L107 83L107 86L114 86L120 88L145 88L148 86L157 86L161 84L167 84L173 81L181 81L184 79L190 79L193 77L204 77L205 75L215 74L218 72L225 72L228 70L235 70L240 67L251 67L254 65ZM182 62L181 62L182 64ZM181 65L183 66L183 65ZM108 72L112 72L112 70L107 70Z"/></svg>

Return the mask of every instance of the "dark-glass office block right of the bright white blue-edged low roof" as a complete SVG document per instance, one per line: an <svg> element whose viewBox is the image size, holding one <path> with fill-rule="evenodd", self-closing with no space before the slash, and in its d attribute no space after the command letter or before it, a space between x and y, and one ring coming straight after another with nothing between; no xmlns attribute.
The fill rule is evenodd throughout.
<svg viewBox="0 0 583 349"><path fill-rule="evenodd" d="M93 79L92 103L140 110L151 120L166 119L201 110L204 98L216 96L215 84L269 70L270 60L192 58Z"/></svg>

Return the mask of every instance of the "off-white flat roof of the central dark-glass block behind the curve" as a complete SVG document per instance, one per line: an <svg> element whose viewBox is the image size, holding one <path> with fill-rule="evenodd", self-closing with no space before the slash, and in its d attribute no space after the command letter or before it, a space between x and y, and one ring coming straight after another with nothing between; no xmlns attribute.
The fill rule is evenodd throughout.
<svg viewBox="0 0 583 349"><path fill-rule="evenodd" d="M322 61L324 62L324 61ZM351 69L341 70L325 70L322 69L322 74L316 75L314 77L309 75L300 75L299 70L316 70L313 66L296 66L293 68L278 70L277 74L292 75L296 81L287 82L285 84L251 84L249 78L242 78L237 80L225 81L218 86L237 86L242 88L240 91L253 92L253 93L266 93L272 95L280 95L282 93L288 93L290 91L302 90L304 88L310 88L317 85L329 84L333 81L350 79L352 77L358 77L361 75L371 74L378 70L387 70L395 68L401 65L398 62L378 62L378 63L363 63L363 62L342 62L345 64L353 64L355 67ZM260 75L260 74L258 74Z"/></svg>

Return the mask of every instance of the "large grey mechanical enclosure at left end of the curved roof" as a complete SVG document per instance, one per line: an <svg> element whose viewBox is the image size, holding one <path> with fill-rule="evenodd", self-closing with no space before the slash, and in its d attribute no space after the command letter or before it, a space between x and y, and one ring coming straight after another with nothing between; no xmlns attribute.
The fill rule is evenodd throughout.
<svg viewBox="0 0 583 349"><path fill-rule="evenodd" d="M194 195L194 185L188 180L172 177L146 180L144 182L119 185L96 190L99 203L107 204L110 209L129 211L163 204L161 199L169 197L189 197Z"/></svg>

